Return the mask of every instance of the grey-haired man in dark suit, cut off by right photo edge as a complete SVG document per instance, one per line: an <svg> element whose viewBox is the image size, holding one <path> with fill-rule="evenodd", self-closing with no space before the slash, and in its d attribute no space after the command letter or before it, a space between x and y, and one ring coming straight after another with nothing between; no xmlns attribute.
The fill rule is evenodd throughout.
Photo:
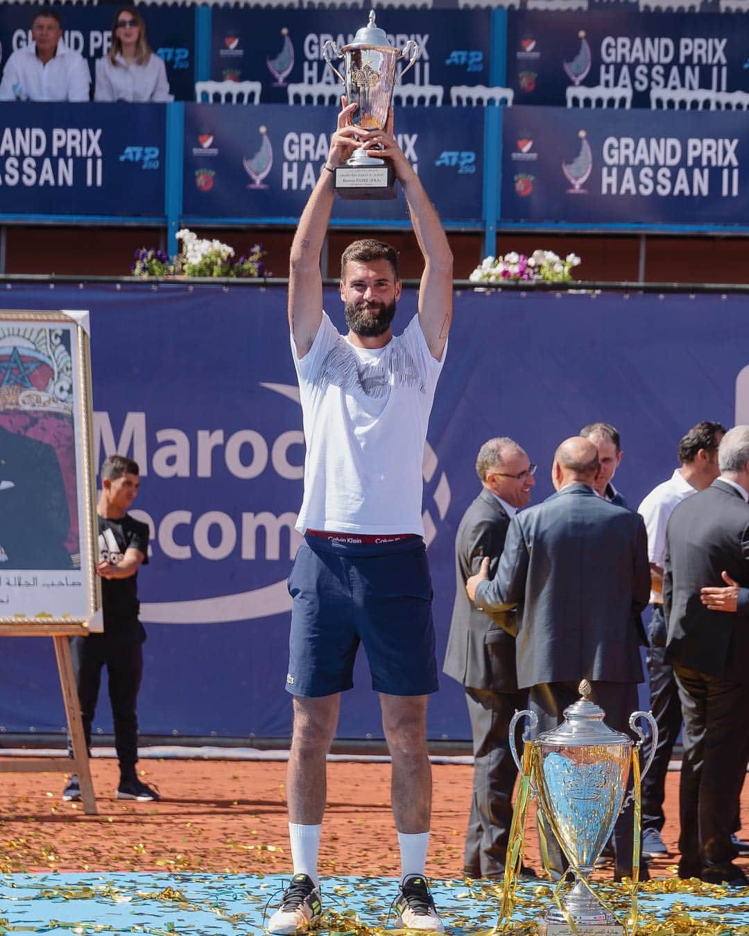
<svg viewBox="0 0 749 936"><path fill-rule="evenodd" d="M718 467L666 528L666 660L684 717L679 874L746 886L731 833L749 754L749 426L727 431Z"/></svg>

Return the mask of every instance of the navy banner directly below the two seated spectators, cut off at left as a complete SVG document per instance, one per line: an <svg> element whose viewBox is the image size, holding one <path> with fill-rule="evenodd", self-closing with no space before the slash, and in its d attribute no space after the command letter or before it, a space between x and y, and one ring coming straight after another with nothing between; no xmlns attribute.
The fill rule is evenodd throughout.
<svg viewBox="0 0 749 936"><path fill-rule="evenodd" d="M0 211L164 214L164 104L0 104Z"/></svg>

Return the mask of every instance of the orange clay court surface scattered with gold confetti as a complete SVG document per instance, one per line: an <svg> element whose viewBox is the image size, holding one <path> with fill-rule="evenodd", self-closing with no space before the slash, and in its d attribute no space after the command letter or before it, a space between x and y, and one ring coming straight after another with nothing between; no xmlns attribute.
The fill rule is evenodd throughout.
<svg viewBox="0 0 749 936"><path fill-rule="evenodd" d="M7 758L4 758L7 761ZM63 774L3 774L0 807L0 872L13 871L203 871L282 874L290 869L286 837L283 762L151 760L139 763L142 779L155 783L160 803L115 800L114 760L92 761L99 814L64 803ZM463 836L472 768L433 768L434 805L427 874L462 875ZM676 860L679 774L667 785L664 840L672 856L654 862L658 876ZM390 766L336 762L328 765L324 821L324 874L395 876L399 870L390 812ZM742 795L749 838L749 785ZM528 825L527 862L539 868L535 826ZM749 871L749 859L738 863ZM607 874L605 870L602 872Z"/></svg>

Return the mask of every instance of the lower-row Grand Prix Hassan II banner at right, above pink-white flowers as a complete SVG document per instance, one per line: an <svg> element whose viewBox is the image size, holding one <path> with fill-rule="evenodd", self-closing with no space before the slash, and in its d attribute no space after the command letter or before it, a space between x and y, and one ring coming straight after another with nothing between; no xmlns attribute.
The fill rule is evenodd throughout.
<svg viewBox="0 0 749 936"><path fill-rule="evenodd" d="M749 222L742 111L510 108L502 127L503 220Z"/></svg>

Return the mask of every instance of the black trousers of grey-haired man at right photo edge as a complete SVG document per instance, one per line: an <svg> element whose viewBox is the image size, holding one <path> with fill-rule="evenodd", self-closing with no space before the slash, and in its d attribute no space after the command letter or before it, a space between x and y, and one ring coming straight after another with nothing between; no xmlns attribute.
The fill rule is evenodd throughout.
<svg viewBox="0 0 749 936"><path fill-rule="evenodd" d="M674 666L684 716L679 786L679 870L725 869L737 854L731 842L746 774L749 682L729 682Z"/></svg>

